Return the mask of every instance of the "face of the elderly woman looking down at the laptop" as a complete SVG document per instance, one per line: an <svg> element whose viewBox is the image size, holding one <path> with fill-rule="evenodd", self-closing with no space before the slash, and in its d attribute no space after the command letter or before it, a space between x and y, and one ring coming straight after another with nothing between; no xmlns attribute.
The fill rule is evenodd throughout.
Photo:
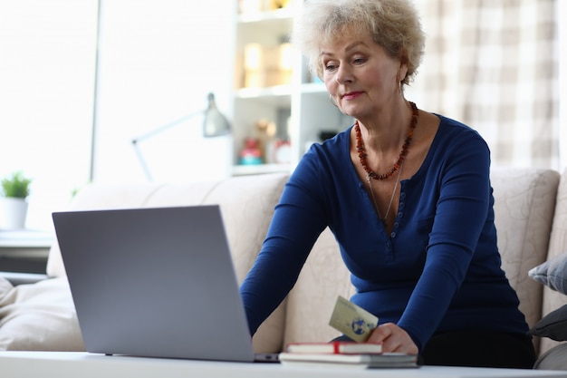
<svg viewBox="0 0 567 378"><path fill-rule="evenodd" d="M401 96L408 69L367 36L343 33L322 44L323 81L339 109L358 120L376 115Z"/></svg>

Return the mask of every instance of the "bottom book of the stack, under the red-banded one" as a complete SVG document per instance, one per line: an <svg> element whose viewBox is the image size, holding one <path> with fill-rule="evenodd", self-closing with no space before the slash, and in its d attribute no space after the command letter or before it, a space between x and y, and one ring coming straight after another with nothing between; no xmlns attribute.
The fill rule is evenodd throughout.
<svg viewBox="0 0 567 378"><path fill-rule="evenodd" d="M290 366L326 366L358 369L418 368L417 354L279 354L280 363Z"/></svg>

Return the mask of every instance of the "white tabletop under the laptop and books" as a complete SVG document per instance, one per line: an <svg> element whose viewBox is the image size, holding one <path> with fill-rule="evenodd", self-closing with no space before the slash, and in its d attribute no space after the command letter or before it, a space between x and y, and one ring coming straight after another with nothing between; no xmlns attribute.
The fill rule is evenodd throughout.
<svg viewBox="0 0 567 378"><path fill-rule="evenodd" d="M567 377L567 372L422 366L418 369L291 367L279 363L218 363L81 352L0 352L0 374L9 378L522 378Z"/></svg>

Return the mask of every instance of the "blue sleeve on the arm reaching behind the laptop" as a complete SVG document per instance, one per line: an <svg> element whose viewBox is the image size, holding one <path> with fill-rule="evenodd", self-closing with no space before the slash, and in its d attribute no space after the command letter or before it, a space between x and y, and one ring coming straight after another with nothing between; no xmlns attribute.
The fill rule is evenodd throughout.
<svg viewBox="0 0 567 378"><path fill-rule="evenodd" d="M292 289L326 227L319 170L312 155L304 155L283 189L262 250L240 287L251 334Z"/></svg>

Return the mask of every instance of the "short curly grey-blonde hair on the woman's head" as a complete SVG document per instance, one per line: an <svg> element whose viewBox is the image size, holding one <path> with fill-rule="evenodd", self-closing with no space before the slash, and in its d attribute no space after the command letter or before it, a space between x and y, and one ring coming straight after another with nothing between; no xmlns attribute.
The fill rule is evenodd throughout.
<svg viewBox="0 0 567 378"><path fill-rule="evenodd" d="M307 0L293 25L292 41L309 59L309 69L322 78L320 47L337 40L345 29L368 35L390 56L405 59L408 84L418 72L425 34L409 0Z"/></svg>

